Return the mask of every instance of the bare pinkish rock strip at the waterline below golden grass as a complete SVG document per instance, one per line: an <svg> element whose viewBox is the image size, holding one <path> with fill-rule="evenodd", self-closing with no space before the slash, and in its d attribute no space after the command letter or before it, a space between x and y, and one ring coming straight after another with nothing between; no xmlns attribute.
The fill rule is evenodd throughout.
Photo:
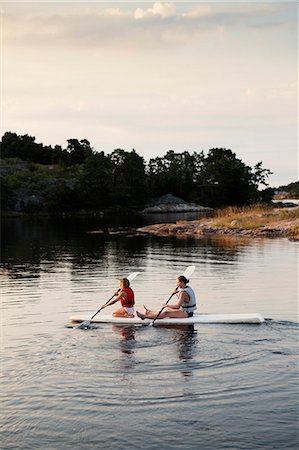
<svg viewBox="0 0 299 450"><path fill-rule="evenodd" d="M264 216L275 216L275 211L264 214ZM260 216L262 219L263 215ZM138 231L156 236L287 237L290 240L299 241L299 218L281 219L277 215L277 220L250 228L242 226L241 220L232 220L229 225L221 225L219 222L221 222L219 218L211 218L177 223L159 223L139 228Z"/></svg>

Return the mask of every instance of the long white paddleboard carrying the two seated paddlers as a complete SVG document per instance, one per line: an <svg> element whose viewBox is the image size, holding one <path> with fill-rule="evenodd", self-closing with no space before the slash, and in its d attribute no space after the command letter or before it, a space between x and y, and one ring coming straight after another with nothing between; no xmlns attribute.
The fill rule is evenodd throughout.
<svg viewBox="0 0 299 450"><path fill-rule="evenodd" d="M90 320L90 316L71 316L72 322L82 323ZM262 323L265 319L259 313L250 314L194 314L193 317L186 319L157 319L155 325L188 325L194 323ZM115 323L115 324L135 324L146 325L152 322L152 319L141 320L139 317L126 319L122 317L113 317L108 314L99 314L91 323Z"/></svg>

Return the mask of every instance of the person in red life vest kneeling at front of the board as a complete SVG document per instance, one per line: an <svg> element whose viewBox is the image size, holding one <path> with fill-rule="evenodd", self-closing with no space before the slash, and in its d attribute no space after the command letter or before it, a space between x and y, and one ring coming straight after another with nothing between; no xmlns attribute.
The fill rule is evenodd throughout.
<svg viewBox="0 0 299 450"><path fill-rule="evenodd" d="M120 300L121 307L113 311L113 317L134 317L134 292L130 288L130 281L127 278L121 278L119 280L119 290L115 293L110 302L104 305L102 308L107 308L107 306L113 305Z"/></svg>

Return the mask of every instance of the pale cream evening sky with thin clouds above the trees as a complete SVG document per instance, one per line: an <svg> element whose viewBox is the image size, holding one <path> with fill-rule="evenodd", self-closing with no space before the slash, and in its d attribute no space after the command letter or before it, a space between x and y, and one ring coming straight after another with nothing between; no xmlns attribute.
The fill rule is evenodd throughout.
<svg viewBox="0 0 299 450"><path fill-rule="evenodd" d="M298 180L297 2L2 1L1 25L1 135L222 147Z"/></svg>

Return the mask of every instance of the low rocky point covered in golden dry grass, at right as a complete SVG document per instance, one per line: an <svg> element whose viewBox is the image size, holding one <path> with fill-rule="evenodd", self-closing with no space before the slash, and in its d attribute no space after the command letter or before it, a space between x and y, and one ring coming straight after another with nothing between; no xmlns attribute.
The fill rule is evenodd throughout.
<svg viewBox="0 0 299 450"><path fill-rule="evenodd" d="M160 236L216 234L299 240L299 207L278 209L254 205L226 208L216 211L209 219L149 225L140 231Z"/></svg>

